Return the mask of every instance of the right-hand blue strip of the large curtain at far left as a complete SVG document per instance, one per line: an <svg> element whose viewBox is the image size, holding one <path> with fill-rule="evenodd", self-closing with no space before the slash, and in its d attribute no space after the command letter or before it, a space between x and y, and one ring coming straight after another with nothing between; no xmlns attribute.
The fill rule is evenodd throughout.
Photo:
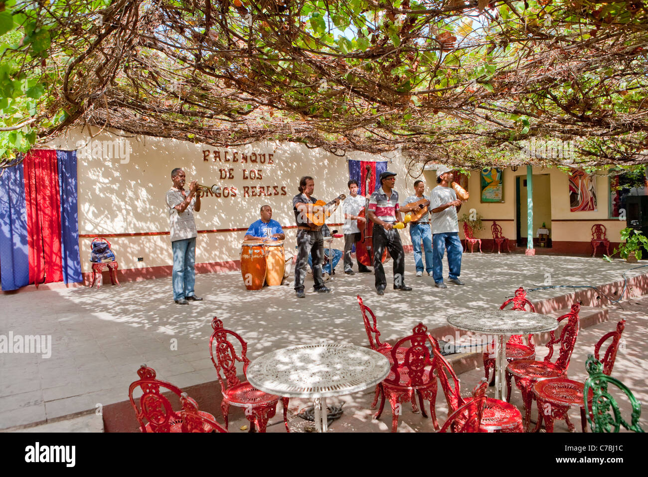
<svg viewBox="0 0 648 477"><path fill-rule="evenodd" d="M82 282L79 256L78 197L76 195L76 151L56 151L58 190L61 194L61 256L63 281Z"/></svg>

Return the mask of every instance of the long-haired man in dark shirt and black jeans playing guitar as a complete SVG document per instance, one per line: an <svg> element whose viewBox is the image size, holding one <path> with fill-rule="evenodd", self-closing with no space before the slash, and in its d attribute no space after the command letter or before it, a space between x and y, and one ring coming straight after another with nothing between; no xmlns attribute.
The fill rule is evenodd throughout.
<svg viewBox="0 0 648 477"><path fill-rule="evenodd" d="M292 198L293 212L297 222L297 263L295 263L295 292L297 298L304 298L304 279L306 278L306 267L308 263L308 254L312 253L313 261L313 279L315 284L313 289L319 293L331 293L332 290L324 285L322 278L322 262L324 260L324 241L321 232L321 225L315 225L307 217L312 212L312 204L318 200L312 197L315 190L315 181L310 176L304 176L299 179L299 193ZM330 202L332 206L328 208L330 213L334 212L340 199ZM317 213L325 213L318 211Z"/></svg>

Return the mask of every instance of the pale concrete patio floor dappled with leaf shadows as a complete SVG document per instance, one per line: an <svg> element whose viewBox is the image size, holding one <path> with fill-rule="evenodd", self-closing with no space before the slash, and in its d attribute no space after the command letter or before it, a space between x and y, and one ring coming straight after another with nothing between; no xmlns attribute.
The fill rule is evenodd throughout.
<svg viewBox="0 0 648 477"><path fill-rule="evenodd" d="M13 332L14 336L52 337L51 358L42 358L40 354L0 354L0 429L52 422L87 413L98 404L123 401L128 398L128 385L137 378L135 372L141 363L153 367L160 378L179 387L214 380L207 342L215 315L248 341L248 357L253 360L273 349L323 339L366 345L355 299L358 294L376 312L382 337L391 341L411 332L419 321L432 329L445 326L446 317L453 313L496 308L519 286L599 286L622 280L624 272L627 276L648 273L648 267L629 271L635 266L621 260L607 263L600 258L465 254L461 278L466 286L448 285L443 290L432 286L432 277L415 277L412 255L406 254L406 284L413 291L393 291L388 287L383 297L375 294L374 277L369 274L336 275L330 283L334 289L330 295L310 292L309 278L307 297L298 300L292 286L246 291L240 272L199 275L196 294L205 300L189 306L174 304L170 278L126 282L121 287L102 286L98 291L71 288L0 295L0 335ZM386 271L389 280L391 263L386 265ZM549 299L570 291L573 290L533 291L529 299ZM643 395L643 370L648 363L642 343L648 334L648 308L635 309L625 304L623 308L630 310L623 312L628 313L629 319L626 337L636 339L636 347L627 347L632 349L628 362L624 364L625 360L619 359L615 369L623 371L624 378L631 380L627 382L631 389ZM614 319L610 312L610 323L597 326L609 324L612 329ZM581 337L586 332L579 336L579 344L585 342ZM583 363L602 334L603 328L597 329L592 343L584 344ZM573 378L584 378L583 363L573 361ZM469 392L478 382L481 371L474 373L461 376L463 391ZM367 404L372 392L344 397L350 400L345 405L345 415L351 415L351 409L357 408L353 415L358 414L358 419L367 422L371 430L387 430L381 426L387 426L391 420L388 409L381 419L387 424L369 419ZM440 412L440 419L441 415ZM411 425L419 426L416 423L421 421L420 415L413 416ZM235 422L231 422L235 429ZM343 421L338 422L342 426ZM410 426L405 415L402 422ZM332 428L337 425L334 423Z"/></svg>

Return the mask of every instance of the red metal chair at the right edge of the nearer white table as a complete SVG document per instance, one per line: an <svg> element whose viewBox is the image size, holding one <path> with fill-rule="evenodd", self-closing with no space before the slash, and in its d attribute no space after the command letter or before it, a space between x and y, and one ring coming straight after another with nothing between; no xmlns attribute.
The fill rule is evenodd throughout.
<svg viewBox="0 0 648 477"><path fill-rule="evenodd" d="M434 409L434 403L437 396L437 380L434 378L434 366L430 360L430 350L426 346L430 341L428 328L419 323L414 326L413 334L399 339L391 349L391 371L383 380L382 388L384 393L380 398L380 408L375 415L375 419L380 418L385 406L385 396L391 404L391 432L396 432L399 426L399 404L411 401L415 394L419 395L419 404L421 404L421 413L423 417L428 417L425 413L423 400L430 402L430 415L434 428L439 430L439 423ZM404 352L403 352L404 349Z"/></svg>

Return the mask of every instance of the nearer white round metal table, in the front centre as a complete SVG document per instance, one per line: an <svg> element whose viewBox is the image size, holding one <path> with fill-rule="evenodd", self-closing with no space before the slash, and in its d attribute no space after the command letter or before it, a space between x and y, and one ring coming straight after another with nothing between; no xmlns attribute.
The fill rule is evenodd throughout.
<svg viewBox="0 0 648 477"><path fill-rule="evenodd" d="M326 398L373 387L389 374L382 354L354 345L323 343L272 351L255 359L246 376L251 385L273 395L313 398L315 426L326 432Z"/></svg>

